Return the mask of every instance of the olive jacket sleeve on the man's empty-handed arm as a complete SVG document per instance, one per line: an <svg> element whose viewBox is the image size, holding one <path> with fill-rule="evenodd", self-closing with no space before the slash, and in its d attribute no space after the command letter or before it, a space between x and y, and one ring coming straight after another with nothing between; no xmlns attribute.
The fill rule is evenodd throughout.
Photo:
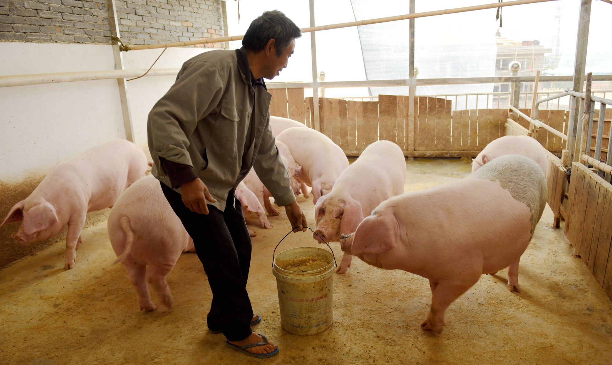
<svg viewBox="0 0 612 365"><path fill-rule="evenodd" d="M215 65L197 61L183 65L174 85L149 112L147 133L151 155L192 166L187 148L198 121L218 105L223 81Z"/></svg>

